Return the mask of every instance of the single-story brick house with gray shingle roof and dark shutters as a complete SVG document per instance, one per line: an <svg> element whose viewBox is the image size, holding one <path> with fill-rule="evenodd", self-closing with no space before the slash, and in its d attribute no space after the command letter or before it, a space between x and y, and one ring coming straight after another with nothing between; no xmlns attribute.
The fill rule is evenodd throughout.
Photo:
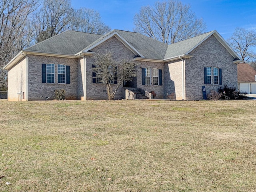
<svg viewBox="0 0 256 192"><path fill-rule="evenodd" d="M106 99L105 86L92 72L93 55L106 50L116 61L139 63L136 78L119 88L116 99L124 98L126 87L154 91L156 99L173 93L178 100L202 99L202 86L206 93L236 87L242 62L216 30L170 45L122 30L103 36L67 31L22 50L4 67L8 100L53 99L56 89L65 89L66 99Z"/></svg>

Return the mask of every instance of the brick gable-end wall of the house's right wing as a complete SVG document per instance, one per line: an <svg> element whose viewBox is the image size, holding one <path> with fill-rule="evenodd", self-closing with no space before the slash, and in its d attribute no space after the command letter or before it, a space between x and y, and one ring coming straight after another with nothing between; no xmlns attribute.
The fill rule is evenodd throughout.
<svg viewBox="0 0 256 192"><path fill-rule="evenodd" d="M237 87L237 65L234 58L214 37L210 36L191 54L192 58L186 59L186 99L202 99L202 86L206 87L206 93L210 90L218 91L220 85L204 84L204 67L217 67L222 69L222 86ZM213 75L213 72L212 72Z"/></svg>

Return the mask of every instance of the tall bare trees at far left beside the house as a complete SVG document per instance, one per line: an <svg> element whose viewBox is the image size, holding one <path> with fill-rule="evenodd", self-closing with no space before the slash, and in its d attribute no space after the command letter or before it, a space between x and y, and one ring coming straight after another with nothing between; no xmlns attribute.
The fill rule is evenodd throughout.
<svg viewBox="0 0 256 192"><path fill-rule="evenodd" d="M2 68L31 44L30 14L39 0L0 0L0 87L7 88L7 71Z"/></svg>

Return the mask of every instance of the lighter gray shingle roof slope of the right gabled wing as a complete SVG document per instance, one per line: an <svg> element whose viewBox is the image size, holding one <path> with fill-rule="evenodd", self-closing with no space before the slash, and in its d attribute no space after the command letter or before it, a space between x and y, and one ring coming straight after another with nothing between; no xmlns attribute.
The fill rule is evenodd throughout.
<svg viewBox="0 0 256 192"><path fill-rule="evenodd" d="M186 54L211 33L212 31L168 45L164 59Z"/></svg>

